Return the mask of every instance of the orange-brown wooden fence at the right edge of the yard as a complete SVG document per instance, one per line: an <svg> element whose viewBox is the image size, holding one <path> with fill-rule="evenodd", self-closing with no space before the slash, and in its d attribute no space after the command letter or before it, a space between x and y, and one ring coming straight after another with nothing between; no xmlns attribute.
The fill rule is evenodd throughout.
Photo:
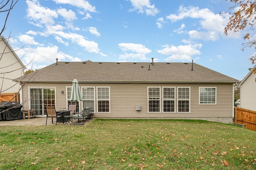
<svg viewBox="0 0 256 170"><path fill-rule="evenodd" d="M256 131L256 111L234 107L234 123L245 124L246 129Z"/></svg>

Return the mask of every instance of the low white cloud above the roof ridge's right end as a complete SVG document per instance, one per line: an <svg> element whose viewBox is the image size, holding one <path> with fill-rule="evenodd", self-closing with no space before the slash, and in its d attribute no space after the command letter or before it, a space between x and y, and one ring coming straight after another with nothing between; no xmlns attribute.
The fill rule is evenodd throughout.
<svg viewBox="0 0 256 170"><path fill-rule="evenodd" d="M179 45L179 46L169 46L163 45L162 50L157 52L163 55L170 55L166 61L190 61L193 55L200 55L200 49L202 44L195 45Z"/></svg>

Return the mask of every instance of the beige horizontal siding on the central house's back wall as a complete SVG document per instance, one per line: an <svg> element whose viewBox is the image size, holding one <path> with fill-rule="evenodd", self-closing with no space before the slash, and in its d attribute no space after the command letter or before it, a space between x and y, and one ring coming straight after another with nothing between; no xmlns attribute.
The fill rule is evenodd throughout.
<svg viewBox="0 0 256 170"><path fill-rule="evenodd" d="M28 87L56 88L56 109L67 108L66 87L72 83L31 83L23 89L23 100L28 99ZM172 118L172 117L232 117L233 84L147 84L147 83L79 83L81 87L95 87L95 117L101 118ZM110 87L110 113L97 113L97 87ZM148 113L148 87L161 87L161 112ZM162 112L162 87L176 87L175 113ZM177 113L178 87L190 87L190 113ZM216 87L216 104L199 104L199 87ZM61 91L64 94L61 94ZM141 111L136 111L141 105ZM28 109L28 102L24 109ZM80 109L82 102L80 102Z"/></svg>

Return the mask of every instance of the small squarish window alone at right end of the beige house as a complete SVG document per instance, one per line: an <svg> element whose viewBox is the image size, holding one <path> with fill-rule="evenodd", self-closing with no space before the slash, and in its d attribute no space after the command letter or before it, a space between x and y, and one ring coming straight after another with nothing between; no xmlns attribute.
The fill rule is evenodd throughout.
<svg viewBox="0 0 256 170"><path fill-rule="evenodd" d="M200 104L216 104L216 87L199 87Z"/></svg>

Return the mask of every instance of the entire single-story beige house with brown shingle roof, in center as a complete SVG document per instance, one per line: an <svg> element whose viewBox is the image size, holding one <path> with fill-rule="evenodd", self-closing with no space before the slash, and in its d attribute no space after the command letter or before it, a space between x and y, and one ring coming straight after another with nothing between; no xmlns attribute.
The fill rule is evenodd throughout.
<svg viewBox="0 0 256 170"><path fill-rule="evenodd" d="M44 115L46 105L68 108L72 81L95 117L206 119L232 122L238 82L195 63L58 62L16 81L24 109Z"/></svg>

